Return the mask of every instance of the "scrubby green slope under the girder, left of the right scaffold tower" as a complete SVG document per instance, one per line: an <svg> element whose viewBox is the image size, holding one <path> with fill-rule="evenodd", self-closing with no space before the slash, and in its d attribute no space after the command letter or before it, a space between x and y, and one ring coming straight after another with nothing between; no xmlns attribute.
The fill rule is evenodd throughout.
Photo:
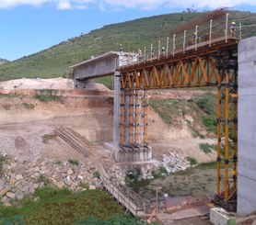
<svg viewBox="0 0 256 225"><path fill-rule="evenodd" d="M180 118L185 118L186 115L191 116L193 122L187 120L187 124L192 129L193 135L200 138L204 136L198 131L196 125L204 126L207 131L216 133L216 104L216 96L206 91L203 96L196 96L189 100L149 100L149 106L153 107L167 124L178 129L182 125Z"/></svg>

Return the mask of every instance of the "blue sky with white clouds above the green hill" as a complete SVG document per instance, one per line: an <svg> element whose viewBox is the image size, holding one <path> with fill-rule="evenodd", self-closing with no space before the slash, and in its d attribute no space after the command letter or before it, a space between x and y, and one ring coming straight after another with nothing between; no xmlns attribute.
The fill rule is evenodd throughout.
<svg viewBox="0 0 256 225"><path fill-rule="evenodd" d="M224 6L256 13L252 0L0 0L0 58L15 61L104 25Z"/></svg>

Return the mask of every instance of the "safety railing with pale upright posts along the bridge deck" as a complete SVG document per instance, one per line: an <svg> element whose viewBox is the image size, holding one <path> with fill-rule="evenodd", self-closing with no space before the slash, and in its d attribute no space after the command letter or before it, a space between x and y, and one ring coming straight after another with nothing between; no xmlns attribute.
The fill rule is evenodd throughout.
<svg viewBox="0 0 256 225"><path fill-rule="evenodd" d="M236 23L235 28L231 27L233 26L231 22ZM173 34L171 38L159 39L157 42L151 43L150 46L131 52L121 67L162 60L169 56L186 53L186 51L196 51L203 46L211 47L219 40L227 42L228 39L248 38L252 28L256 28L256 17L231 20L227 13L226 17L216 21L210 19L207 24L183 30L183 32Z"/></svg>

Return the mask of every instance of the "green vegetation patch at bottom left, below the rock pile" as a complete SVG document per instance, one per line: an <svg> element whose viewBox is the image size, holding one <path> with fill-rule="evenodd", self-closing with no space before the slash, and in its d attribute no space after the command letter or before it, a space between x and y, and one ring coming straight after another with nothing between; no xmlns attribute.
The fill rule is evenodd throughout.
<svg viewBox="0 0 256 225"><path fill-rule="evenodd" d="M39 200L34 201L35 198ZM33 196L17 202L17 207L7 208L0 205L0 224L144 223L138 223L137 219L125 215L120 205L104 191L87 190L73 193L67 189L44 187L37 189Z"/></svg>

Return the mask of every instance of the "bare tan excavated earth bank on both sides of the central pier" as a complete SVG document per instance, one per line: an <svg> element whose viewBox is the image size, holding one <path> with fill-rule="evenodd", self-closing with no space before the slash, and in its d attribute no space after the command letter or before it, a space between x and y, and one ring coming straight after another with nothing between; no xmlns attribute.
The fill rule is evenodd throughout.
<svg viewBox="0 0 256 225"><path fill-rule="evenodd" d="M70 90L70 82L65 79L51 81L36 81L20 79L1 83L3 90L52 88L59 86L63 90ZM32 85L33 84L33 85ZM47 86L48 84L49 86ZM113 133L113 92L106 90L100 84L91 84L91 95L61 96L52 101L43 102L35 96L4 95L0 97L0 153L6 157L15 157L19 160L35 161L38 158L54 158L64 161L74 159L88 160L79 152L61 140L54 132L57 127L74 130L89 146L94 157L104 158L108 154L104 151L104 142L112 141ZM21 90L20 89L20 90ZM102 93L102 95L100 94ZM106 95L107 93L107 95ZM20 94L20 93L19 93ZM164 91L152 92L149 97L157 99L184 98L203 95L204 91ZM182 152L196 158L198 163L215 160L215 152L205 154L200 152L199 143L215 143L212 139L193 138L188 126L184 123L182 129L176 129L165 122L153 110L149 110L149 143L153 148L153 157L160 159L162 154ZM159 132L164 130L164 132ZM187 143L187 144L185 144ZM111 161L111 163L114 163ZM200 186L200 184L198 184ZM169 214L171 215L171 214ZM172 215L173 216L173 215ZM195 219L195 220L194 220ZM165 220L163 218L162 220ZM181 219L182 220L182 219ZM164 224L209 224L205 219L172 220ZM174 222L175 221L175 222Z"/></svg>

